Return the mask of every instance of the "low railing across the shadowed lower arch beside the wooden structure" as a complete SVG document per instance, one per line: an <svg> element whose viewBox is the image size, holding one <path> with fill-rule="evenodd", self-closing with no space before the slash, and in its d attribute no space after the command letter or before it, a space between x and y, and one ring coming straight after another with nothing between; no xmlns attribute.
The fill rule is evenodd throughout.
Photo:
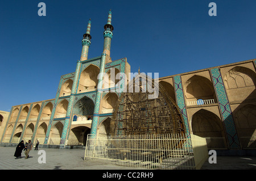
<svg viewBox="0 0 256 181"><path fill-rule="evenodd" d="M228 145L224 137L204 137L209 150L226 150Z"/></svg>

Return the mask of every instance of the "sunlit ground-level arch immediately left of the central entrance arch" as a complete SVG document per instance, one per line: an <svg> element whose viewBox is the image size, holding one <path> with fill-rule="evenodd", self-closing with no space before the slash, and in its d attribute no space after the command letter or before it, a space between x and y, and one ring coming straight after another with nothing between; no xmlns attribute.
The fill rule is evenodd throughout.
<svg viewBox="0 0 256 181"><path fill-rule="evenodd" d="M51 129L51 136L49 137L50 145L60 144L62 131L63 131L63 124L59 121Z"/></svg>

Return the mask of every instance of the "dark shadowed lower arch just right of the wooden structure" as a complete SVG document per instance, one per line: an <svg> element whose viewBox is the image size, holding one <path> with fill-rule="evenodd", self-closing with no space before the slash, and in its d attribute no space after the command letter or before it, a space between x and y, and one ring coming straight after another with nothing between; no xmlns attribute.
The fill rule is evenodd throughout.
<svg viewBox="0 0 256 181"><path fill-rule="evenodd" d="M213 112L201 109L193 114L192 133L200 137L225 137L221 119Z"/></svg>

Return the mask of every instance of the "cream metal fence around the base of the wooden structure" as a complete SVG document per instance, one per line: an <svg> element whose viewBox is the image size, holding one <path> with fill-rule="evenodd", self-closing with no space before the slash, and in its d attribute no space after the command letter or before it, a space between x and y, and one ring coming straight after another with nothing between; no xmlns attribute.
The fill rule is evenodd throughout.
<svg viewBox="0 0 256 181"><path fill-rule="evenodd" d="M198 149L205 149L200 162L208 158L204 142L205 146L197 142ZM97 138L88 134L84 160L144 169L199 169L189 143L190 139L179 134L98 135Z"/></svg>

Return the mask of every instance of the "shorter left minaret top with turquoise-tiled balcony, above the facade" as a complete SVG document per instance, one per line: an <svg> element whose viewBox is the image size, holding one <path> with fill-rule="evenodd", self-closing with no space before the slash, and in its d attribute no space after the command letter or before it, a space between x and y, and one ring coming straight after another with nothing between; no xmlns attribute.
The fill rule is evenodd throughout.
<svg viewBox="0 0 256 181"><path fill-rule="evenodd" d="M90 39L92 39L92 36L90 36L90 19L87 25L87 30L86 33L84 34L84 38L82 39L82 53L81 53L81 58L80 61L87 60L88 57L88 50L90 47Z"/></svg>

